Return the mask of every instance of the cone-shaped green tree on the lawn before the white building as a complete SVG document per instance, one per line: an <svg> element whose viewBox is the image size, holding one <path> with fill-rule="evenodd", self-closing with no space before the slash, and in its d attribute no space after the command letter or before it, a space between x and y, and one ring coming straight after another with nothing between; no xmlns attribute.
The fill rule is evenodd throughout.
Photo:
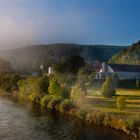
<svg viewBox="0 0 140 140"><path fill-rule="evenodd" d="M111 97L115 95L115 88L113 84L113 80L111 77L107 77L105 82L103 83L101 87L101 93L105 97Z"/></svg>

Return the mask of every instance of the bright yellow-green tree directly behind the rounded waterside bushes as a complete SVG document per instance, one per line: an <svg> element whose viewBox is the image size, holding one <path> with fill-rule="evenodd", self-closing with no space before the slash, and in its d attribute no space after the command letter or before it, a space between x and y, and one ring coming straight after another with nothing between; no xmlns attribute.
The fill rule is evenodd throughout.
<svg viewBox="0 0 140 140"><path fill-rule="evenodd" d="M51 95L62 97L63 93L62 87L55 77L50 77L50 85L48 90Z"/></svg>

